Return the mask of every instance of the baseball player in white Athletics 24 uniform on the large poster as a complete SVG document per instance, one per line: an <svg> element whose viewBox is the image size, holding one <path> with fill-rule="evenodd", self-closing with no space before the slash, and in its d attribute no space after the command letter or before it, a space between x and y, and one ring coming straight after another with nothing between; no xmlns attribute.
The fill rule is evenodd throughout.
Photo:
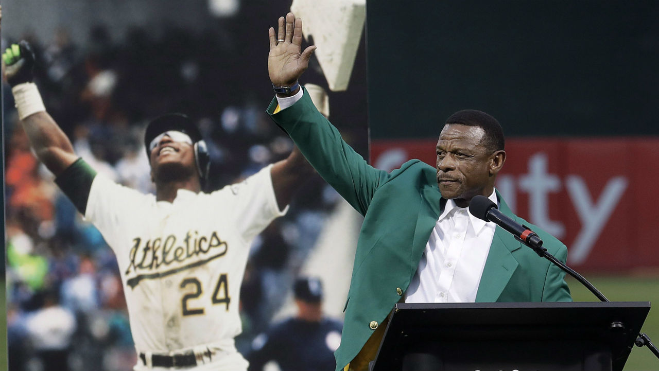
<svg viewBox="0 0 659 371"><path fill-rule="evenodd" d="M203 192L209 155L195 123L153 119L144 146L156 194L119 185L74 153L46 112L26 42L3 54L18 116L55 183L113 250L137 353L134 370L246 370L241 283L252 240L312 174L297 149L243 182Z"/></svg>

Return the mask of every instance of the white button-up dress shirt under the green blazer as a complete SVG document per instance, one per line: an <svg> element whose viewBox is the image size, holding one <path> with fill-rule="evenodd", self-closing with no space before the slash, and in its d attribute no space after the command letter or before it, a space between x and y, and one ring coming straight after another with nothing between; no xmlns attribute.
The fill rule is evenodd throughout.
<svg viewBox="0 0 659 371"><path fill-rule="evenodd" d="M496 192L490 200L498 204ZM405 302L474 302L496 224L447 200L430 233Z"/></svg>

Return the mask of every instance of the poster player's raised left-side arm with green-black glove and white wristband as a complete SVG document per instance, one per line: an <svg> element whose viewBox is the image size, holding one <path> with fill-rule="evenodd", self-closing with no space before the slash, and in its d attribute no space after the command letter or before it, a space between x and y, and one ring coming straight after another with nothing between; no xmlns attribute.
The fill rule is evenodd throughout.
<svg viewBox="0 0 659 371"><path fill-rule="evenodd" d="M71 140L45 111L34 79L34 53L27 42L8 47L3 53L5 77L12 87L18 116L36 156L55 175L60 175L78 156Z"/></svg>

